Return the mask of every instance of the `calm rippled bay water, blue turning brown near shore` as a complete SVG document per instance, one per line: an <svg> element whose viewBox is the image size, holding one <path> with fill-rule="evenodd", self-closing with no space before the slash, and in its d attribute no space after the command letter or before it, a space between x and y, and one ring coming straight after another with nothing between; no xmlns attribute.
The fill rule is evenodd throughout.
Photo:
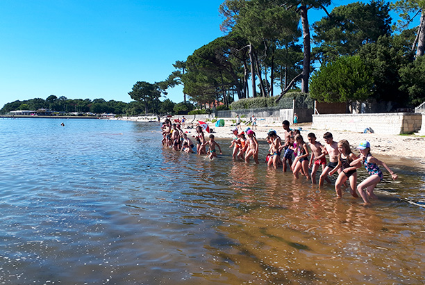
<svg viewBox="0 0 425 285"><path fill-rule="evenodd" d="M425 283L417 161L385 158L400 179L365 208L229 140L209 161L156 123L60 122L0 119L0 284Z"/></svg>

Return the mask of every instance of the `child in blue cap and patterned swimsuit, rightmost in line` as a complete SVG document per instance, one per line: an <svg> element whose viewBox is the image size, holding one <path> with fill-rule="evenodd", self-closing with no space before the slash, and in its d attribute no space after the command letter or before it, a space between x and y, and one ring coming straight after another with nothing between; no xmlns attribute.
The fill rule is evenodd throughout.
<svg viewBox="0 0 425 285"><path fill-rule="evenodd" d="M363 140L363 142L360 142L357 148L360 150L360 158L351 162L350 165L355 165L356 163L363 161L365 169L370 176L367 177L367 179L365 179L362 183L358 184L357 190L358 193L360 193L360 196L363 198L365 204L370 204L369 197L371 197L372 199L377 198L374 194L374 188L376 187L376 184L378 184L383 179L383 174L378 168L378 165L383 165L383 167L388 172L390 172L391 178L393 180L397 179L397 174L392 172L392 170L390 170L390 168L383 161L380 161L374 158L374 156L372 156L372 154L370 153L370 143L367 140Z"/></svg>

